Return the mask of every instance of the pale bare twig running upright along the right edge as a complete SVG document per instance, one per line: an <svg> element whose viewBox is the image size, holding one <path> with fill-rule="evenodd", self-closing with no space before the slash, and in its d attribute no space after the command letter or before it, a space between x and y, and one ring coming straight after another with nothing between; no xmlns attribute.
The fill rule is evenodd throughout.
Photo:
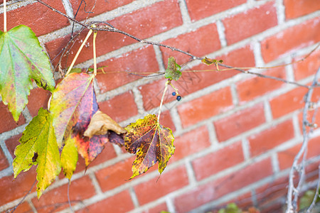
<svg viewBox="0 0 320 213"><path fill-rule="evenodd" d="M297 170L299 166L299 159L302 157L302 155L306 151L306 147L308 146L308 141L309 141L309 133L306 131L306 124L307 124L307 119L306 115L309 109L309 106L311 104L311 95L314 90L314 86L318 84L318 78L320 75L320 67L318 71L316 72L316 75L314 76L314 81L312 82L312 86L309 88L308 92L306 93L306 98L304 104L304 110L303 110L303 121L302 121L302 132L303 132L303 137L304 141L302 142L302 147L300 148L299 152L294 158L294 162L292 163L292 168L289 173L289 188L288 188L288 194L287 194L287 213L292 213L292 212L297 212L297 197L299 196L299 188L294 187L294 171ZM300 170L304 170L304 167L299 168ZM304 177L304 172L301 173L302 175L300 176L300 180L303 179ZM298 185L299 187L299 185ZM294 202L292 201L292 196L294 196Z"/></svg>

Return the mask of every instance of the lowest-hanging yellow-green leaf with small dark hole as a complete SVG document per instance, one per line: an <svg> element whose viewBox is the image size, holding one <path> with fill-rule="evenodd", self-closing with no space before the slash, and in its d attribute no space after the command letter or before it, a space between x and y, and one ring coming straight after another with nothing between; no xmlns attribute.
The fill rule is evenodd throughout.
<svg viewBox="0 0 320 213"><path fill-rule="evenodd" d="M32 165L37 167L37 194L40 197L44 190L60 173L60 153L55 139L50 113L41 108L38 115L26 126L20 138L20 145L14 154L14 178L27 171Z"/></svg>

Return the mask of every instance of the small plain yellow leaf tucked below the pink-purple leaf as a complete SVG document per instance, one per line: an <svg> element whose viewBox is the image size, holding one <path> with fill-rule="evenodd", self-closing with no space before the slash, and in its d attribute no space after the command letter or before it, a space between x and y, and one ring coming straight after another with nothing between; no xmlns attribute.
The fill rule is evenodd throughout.
<svg viewBox="0 0 320 213"><path fill-rule="evenodd" d="M73 173L75 172L77 161L78 150L75 146L75 141L71 138L68 138L68 140L65 141L65 146L61 152L61 165L63 167L65 178L68 178L69 180L71 179Z"/></svg>

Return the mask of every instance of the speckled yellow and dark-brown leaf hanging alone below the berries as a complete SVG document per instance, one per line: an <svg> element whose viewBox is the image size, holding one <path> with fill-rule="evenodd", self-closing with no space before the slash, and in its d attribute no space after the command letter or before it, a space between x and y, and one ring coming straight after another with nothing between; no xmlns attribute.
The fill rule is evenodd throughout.
<svg viewBox="0 0 320 213"><path fill-rule="evenodd" d="M148 114L126 128L124 138L126 150L137 158L132 164L132 178L145 173L156 162L159 173L166 168L171 155L174 154L174 135L171 129L159 124L156 115Z"/></svg>

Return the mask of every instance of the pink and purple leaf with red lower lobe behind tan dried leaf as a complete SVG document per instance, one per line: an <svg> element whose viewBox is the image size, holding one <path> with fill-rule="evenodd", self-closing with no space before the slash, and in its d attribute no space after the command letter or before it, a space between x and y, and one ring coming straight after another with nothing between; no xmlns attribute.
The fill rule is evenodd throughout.
<svg viewBox="0 0 320 213"><path fill-rule="evenodd" d="M74 140L78 153L85 158L86 165L101 153L105 143L109 141L108 134L91 138L84 136L92 116L98 111L93 87L94 77L85 73L69 74L57 85L50 101L59 148L63 148L67 138ZM63 168L69 166L73 168L72 165L64 165ZM70 170L68 173L70 174Z"/></svg>

